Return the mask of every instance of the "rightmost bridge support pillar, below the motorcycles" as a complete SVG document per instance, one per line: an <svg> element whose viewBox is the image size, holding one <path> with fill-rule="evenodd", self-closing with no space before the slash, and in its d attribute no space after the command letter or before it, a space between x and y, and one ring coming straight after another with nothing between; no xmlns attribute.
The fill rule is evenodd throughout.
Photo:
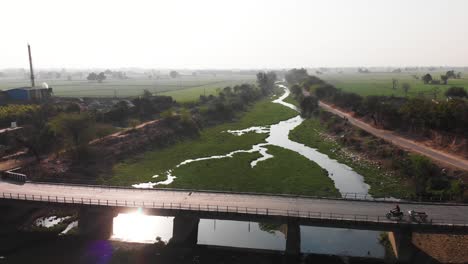
<svg viewBox="0 0 468 264"><path fill-rule="evenodd" d="M414 255L412 233L410 230L400 230L388 233L388 239L392 245L393 253L398 263L411 263Z"/></svg>

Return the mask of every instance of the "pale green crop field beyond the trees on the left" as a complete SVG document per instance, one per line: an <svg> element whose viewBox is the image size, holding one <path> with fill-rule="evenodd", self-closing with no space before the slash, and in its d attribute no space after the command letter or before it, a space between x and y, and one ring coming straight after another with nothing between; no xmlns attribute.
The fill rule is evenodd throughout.
<svg viewBox="0 0 468 264"><path fill-rule="evenodd" d="M217 94L219 89L242 83L255 83L255 75L182 76L175 79L108 79L102 83L87 80L36 80L46 82L59 97L132 97L144 90L172 96L177 101L196 100L200 95ZM0 79L0 89L30 86L29 80Z"/></svg>

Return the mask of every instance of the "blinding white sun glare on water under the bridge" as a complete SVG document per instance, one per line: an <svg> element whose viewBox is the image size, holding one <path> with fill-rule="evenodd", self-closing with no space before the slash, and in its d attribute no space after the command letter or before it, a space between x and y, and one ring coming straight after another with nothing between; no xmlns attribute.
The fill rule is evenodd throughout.
<svg viewBox="0 0 468 264"><path fill-rule="evenodd" d="M156 237L167 242L172 237L173 217L145 215L141 209L114 218L111 239L127 242L154 243Z"/></svg>

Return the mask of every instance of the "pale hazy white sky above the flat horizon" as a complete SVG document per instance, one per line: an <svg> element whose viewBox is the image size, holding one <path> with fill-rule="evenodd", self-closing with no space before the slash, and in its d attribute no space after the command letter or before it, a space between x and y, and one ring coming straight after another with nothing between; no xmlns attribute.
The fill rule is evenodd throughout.
<svg viewBox="0 0 468 264"><path fill-rule="evenodd" d="M14 0L0 68L468 65L467 0Z"/></svg>

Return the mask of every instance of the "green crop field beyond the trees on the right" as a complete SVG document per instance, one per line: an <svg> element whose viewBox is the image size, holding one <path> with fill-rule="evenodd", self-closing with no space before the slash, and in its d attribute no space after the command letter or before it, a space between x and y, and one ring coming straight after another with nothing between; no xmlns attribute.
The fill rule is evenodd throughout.
<svg viewBox="0 0 468 264"><path fill-rule="evenodd" d="M440 80L442 72L429 72L434 79ZM335 85L343 91L357 93L361 96L387 95L405 96L401 88L403 83L410 84L409 97L428 97L441 99L445 98L445 91L451 86L461 86L468 89L468 72L462 73L462 79L449 79L447 85L424 84L422 80L416 79L413 75L423 76L425 73L344 73L344 74L323 74L321 79ZM398 80L397 89L392 88L392 79Z"/></svg>

